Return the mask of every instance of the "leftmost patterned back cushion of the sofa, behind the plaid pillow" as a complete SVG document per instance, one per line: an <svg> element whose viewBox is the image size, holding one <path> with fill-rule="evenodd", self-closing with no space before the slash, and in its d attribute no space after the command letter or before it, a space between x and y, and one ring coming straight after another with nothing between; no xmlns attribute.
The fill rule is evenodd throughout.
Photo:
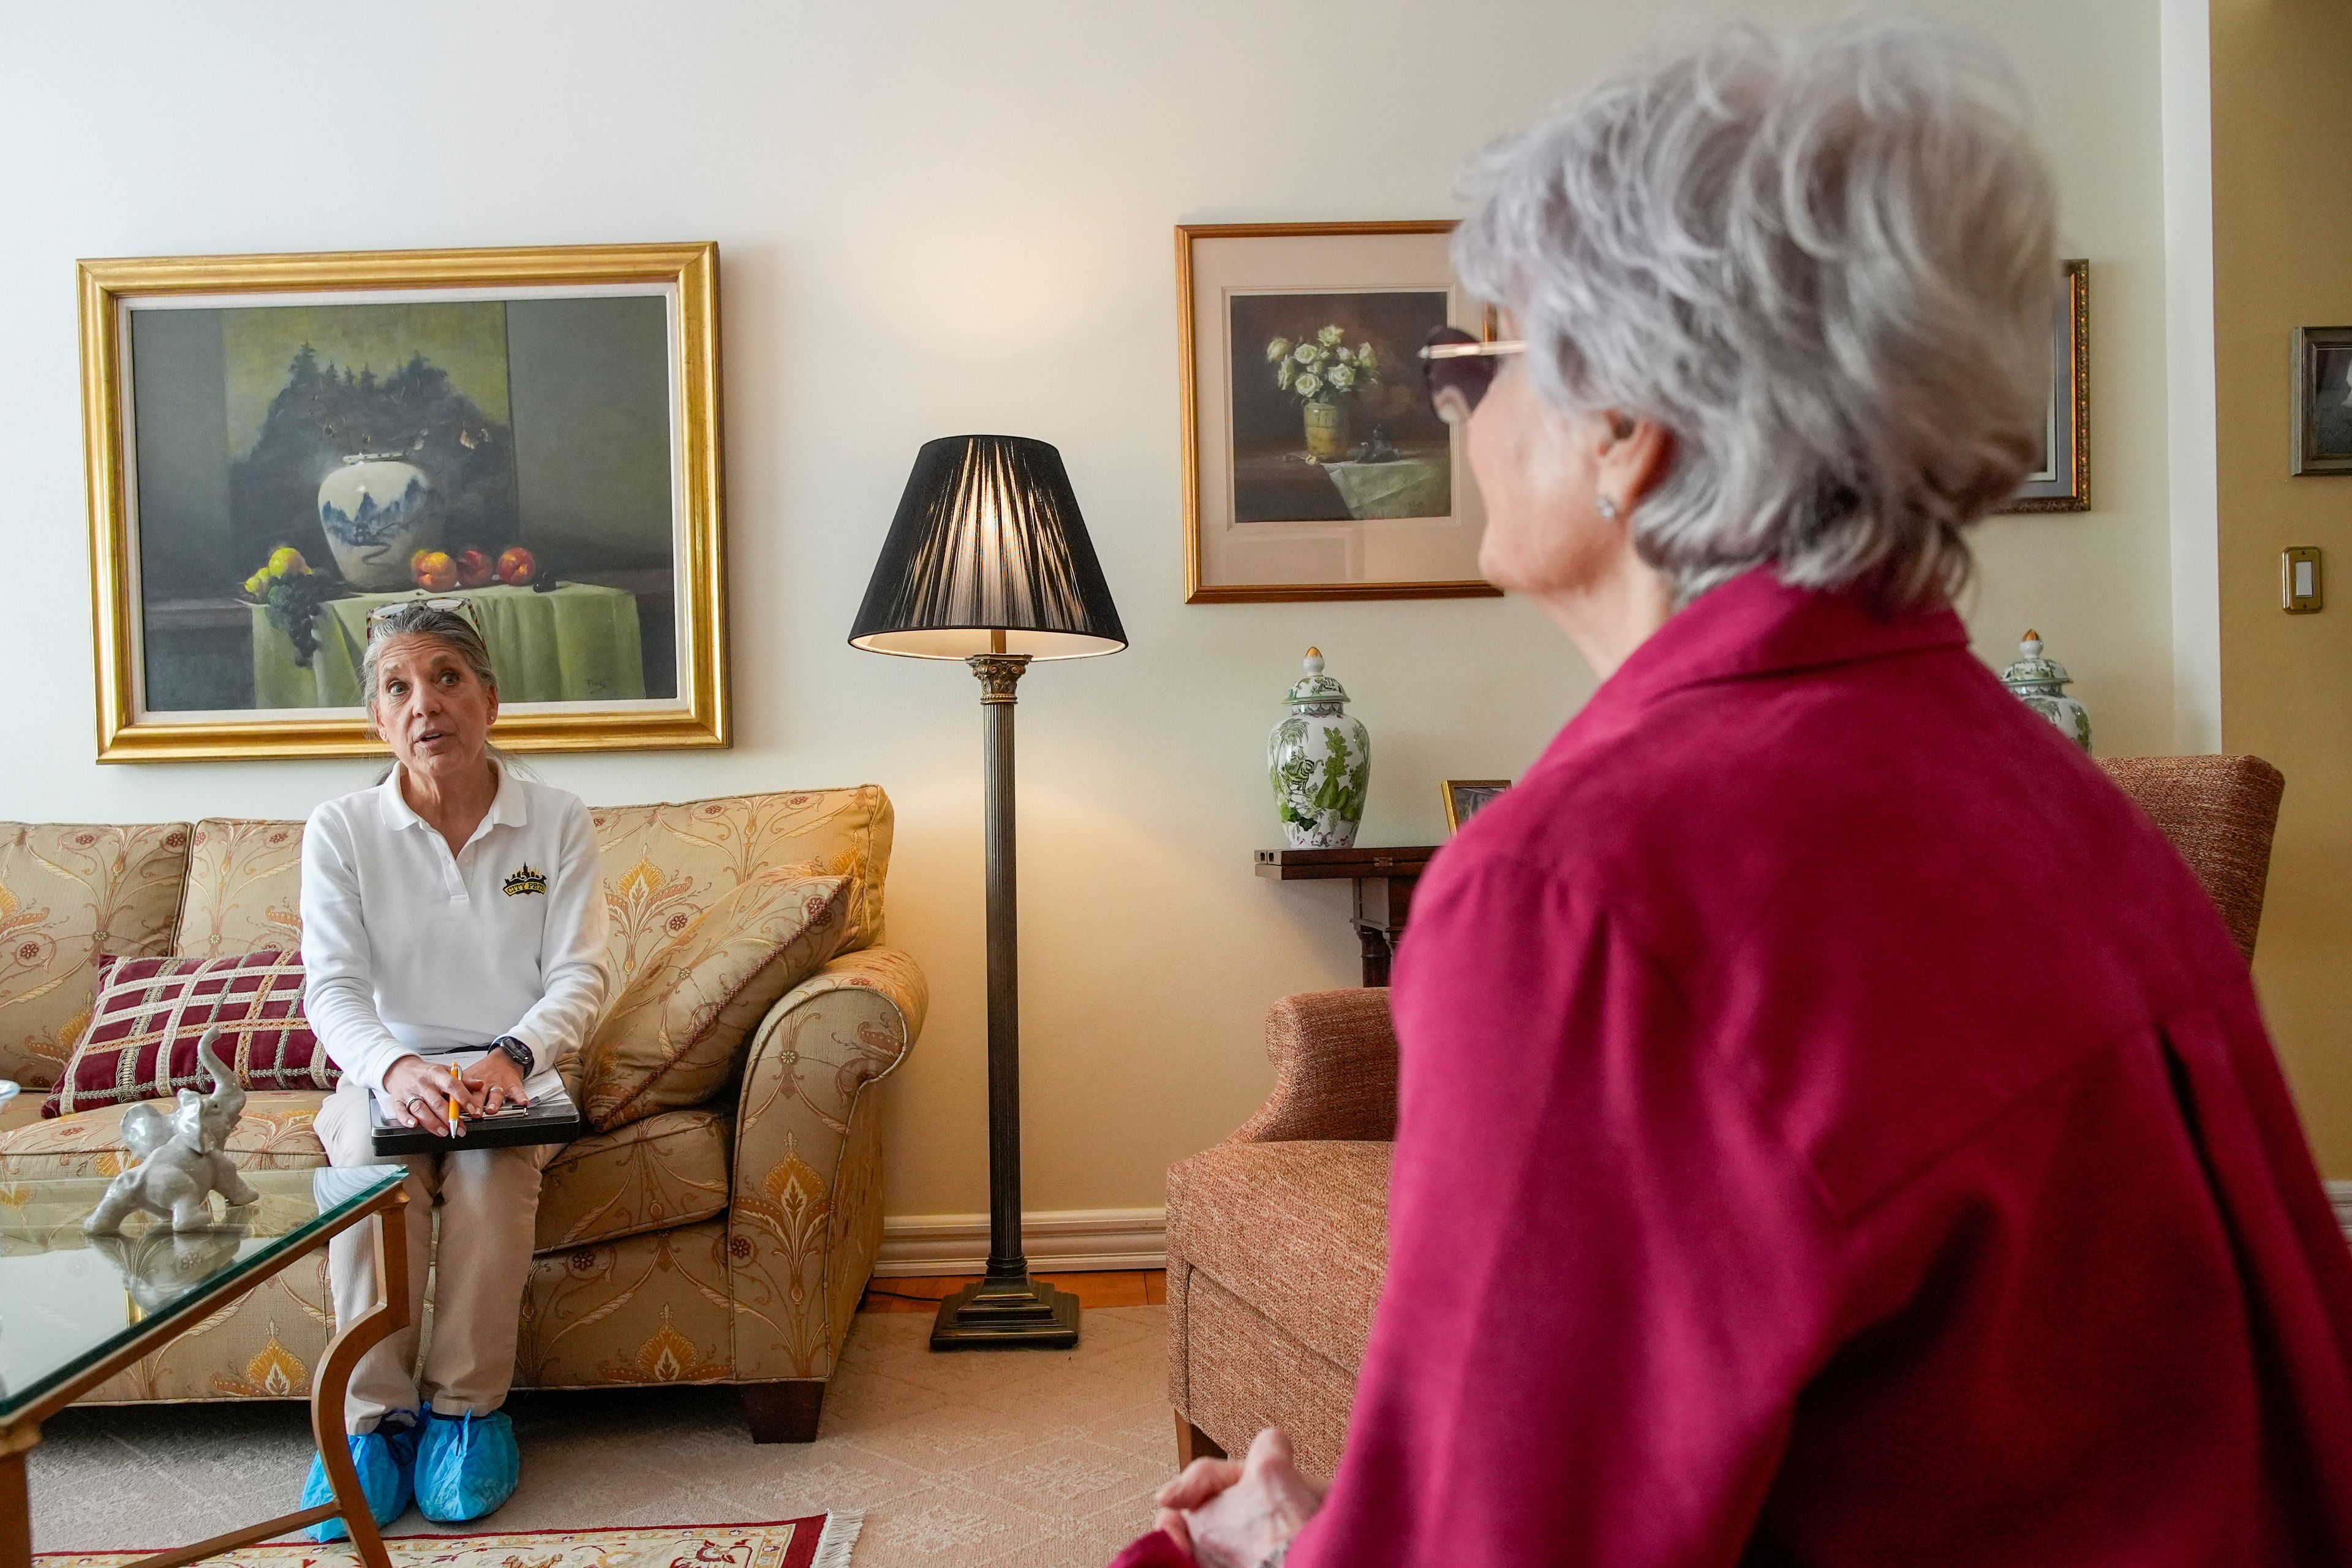
<svg viewBox="0 0 2352 1568"><path fill-rule="evenodd" d="M169 952L186 872L186 823L0 823L0 1077L56 1081L99 954Z"/></svg>

